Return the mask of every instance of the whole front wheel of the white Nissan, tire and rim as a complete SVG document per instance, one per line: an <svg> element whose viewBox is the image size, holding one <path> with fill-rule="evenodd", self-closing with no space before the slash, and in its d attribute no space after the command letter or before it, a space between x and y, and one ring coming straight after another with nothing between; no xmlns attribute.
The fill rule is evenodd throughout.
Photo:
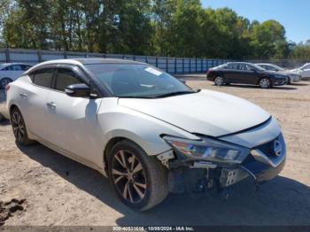
<svg viewBox="0 0 310 232"><path fill-rule="evenodd" d="M128 140L116 143L108 157L108 168L116 194L136 211L151 209L168 195L167 168L136 143Z"/></svg>

